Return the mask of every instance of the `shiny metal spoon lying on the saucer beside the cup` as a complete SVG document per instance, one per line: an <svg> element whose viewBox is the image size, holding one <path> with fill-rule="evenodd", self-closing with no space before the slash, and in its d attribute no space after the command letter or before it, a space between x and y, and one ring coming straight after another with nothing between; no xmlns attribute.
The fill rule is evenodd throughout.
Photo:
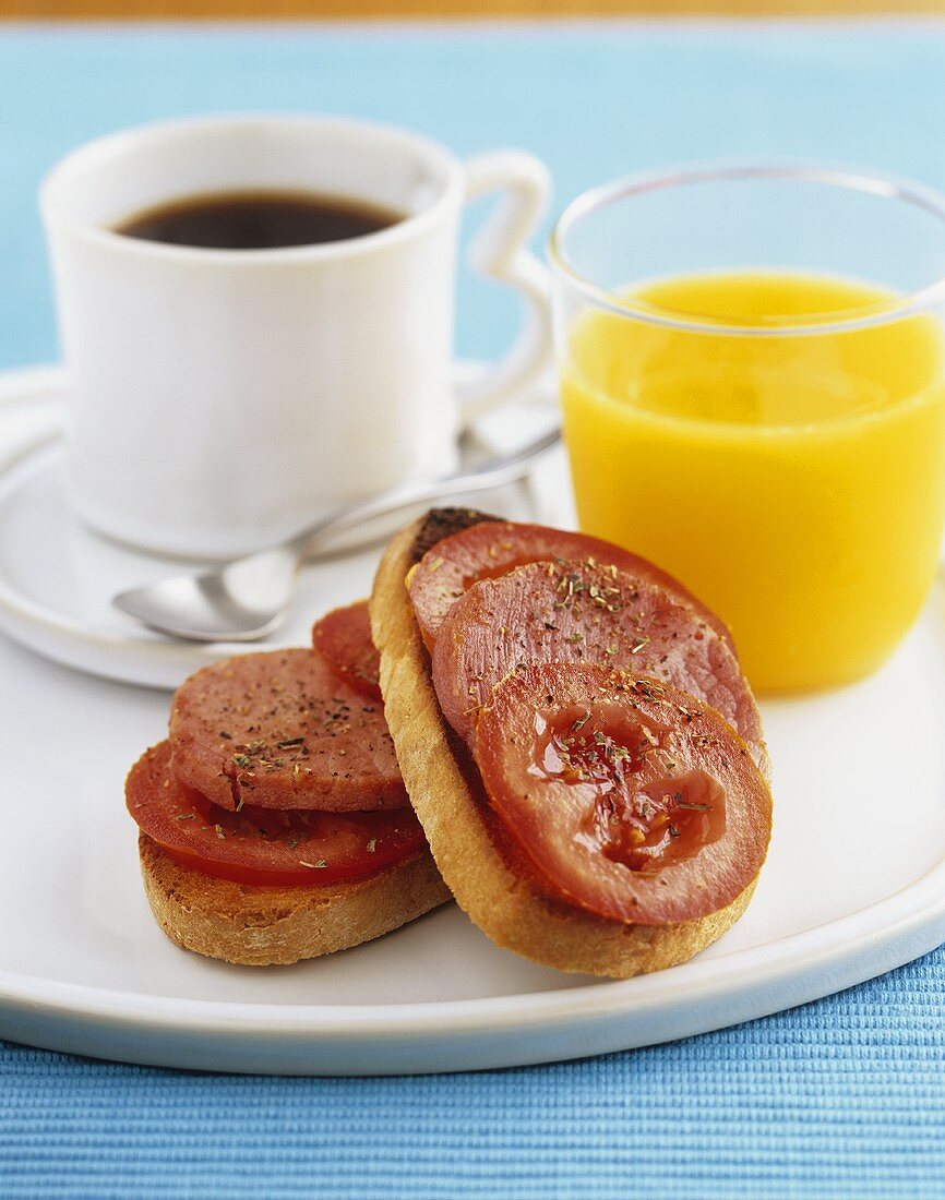
<svg viewBox="0 0 945 1200"><path fill-rule="evenodd" d="M199 575L174 575L143 588L120 592L112 604L143 625L174 637L196 642L252 642L282 624L299 564L321 542L400 509L515 482L560 440L561 431L551 430L514 454L346 505L279 546L235 558Z"/></svg>

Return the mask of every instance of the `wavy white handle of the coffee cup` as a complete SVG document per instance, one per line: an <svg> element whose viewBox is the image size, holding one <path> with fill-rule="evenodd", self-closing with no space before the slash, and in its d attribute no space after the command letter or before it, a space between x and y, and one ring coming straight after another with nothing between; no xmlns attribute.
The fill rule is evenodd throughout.
<svg viewBox="0 0 945 1200"><path fill-rule="evenodd" d="M482 376L457 389L463 426L532 383L551 361L550 277L527 248L545 214L551 176L545 164L520 150L497 150L466 163L466 199L504 191L498 211L473 240L469 263L482 275L508 283L525 301L525 323L512 349Z"/></svg>

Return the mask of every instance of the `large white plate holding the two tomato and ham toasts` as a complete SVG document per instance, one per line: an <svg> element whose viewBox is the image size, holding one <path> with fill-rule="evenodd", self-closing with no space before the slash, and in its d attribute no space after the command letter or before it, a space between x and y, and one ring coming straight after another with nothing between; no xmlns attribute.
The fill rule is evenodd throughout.
<svg viewBox="0 0 945 1200"><path fill-rule="evenodd" d="M353 569L355 592L370 565ZM498 950L453 906L294 967L179 950L150 916L121 798L167 697L7 640L0 680L0 1036L13 1040L214 1070L509 1067L761 1016L945 938L941 586L872 679L764 706L777 809L754 901L698 959L621 983Z"/></svg>

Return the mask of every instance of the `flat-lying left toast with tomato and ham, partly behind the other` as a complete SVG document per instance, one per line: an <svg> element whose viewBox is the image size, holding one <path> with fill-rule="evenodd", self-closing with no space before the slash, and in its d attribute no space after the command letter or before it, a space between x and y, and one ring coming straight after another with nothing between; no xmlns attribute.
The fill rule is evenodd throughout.
<svg viewBox="0 0 945 1200"><path fill-rule="evenodd" d="M128 774L148 899L186 949L295 962L449 899L384 722L366 604L329 613L315 644L191 676L168 739Z"/></svg>

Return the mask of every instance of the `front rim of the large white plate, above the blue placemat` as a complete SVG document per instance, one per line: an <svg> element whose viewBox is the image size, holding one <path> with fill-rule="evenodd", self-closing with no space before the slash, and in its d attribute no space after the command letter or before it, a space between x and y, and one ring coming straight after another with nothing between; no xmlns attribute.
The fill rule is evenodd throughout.
<svg viewBox="0 0 945 1200"><path fill-rule="evenodd" d="M899 890L843 917L771 942L708 959L695 958L630 979L599 979L582 986L473 1000L271 1004L157 996L0 971L0 1014L2 1006L25 1003L40 1006L46 1015L109 1018L149 1030L204 1036L225 1030L253 1036L469 1034L512 1032L521 1027L522 1019L527 1019L530 1028L548 1028L561 1021L592 1020L614 1012L666 1009L678 1003L689 1006L699 998L719 1001L743 990L740 985L746 979L753 988L771 986L797 976L799 964L806 971L841 965L905 938L935 920L945 920L945 858ZM938 943L937 936L928 949ZM836 990L830 988L820 995Z"/></svg>

